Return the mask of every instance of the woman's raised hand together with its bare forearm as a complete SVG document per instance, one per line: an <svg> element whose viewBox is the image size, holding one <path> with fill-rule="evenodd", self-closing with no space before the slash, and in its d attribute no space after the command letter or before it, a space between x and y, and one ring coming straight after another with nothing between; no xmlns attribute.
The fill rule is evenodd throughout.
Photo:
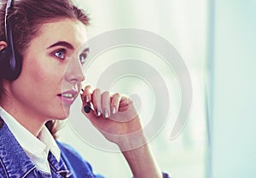
<svg viewBox="0 0 256 178"><path fill-rule="evenodd" d="M102 93L86 86L81 95L82 112L108 141L116 143L131 168L133 177L162 177L158 164L143 135L143 127L132 100L125 96ZM90 102L93 111L84 112ZM147 163L147 164L145 164Z"/></svg>

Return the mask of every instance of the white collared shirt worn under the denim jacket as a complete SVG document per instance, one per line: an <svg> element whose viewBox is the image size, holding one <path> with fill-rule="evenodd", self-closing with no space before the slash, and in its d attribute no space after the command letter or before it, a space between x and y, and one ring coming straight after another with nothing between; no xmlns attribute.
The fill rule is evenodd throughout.
<svg viewBox="0 0 256 178"><path fill-rule="evenodd" d="M15 135L15 139L20 143L20 146L26 152L26 155L32 159L32 162L38 169L50 173L48 153L49 151L55 156L59 162L61 158L60 148L57 146L53 136L49 133L49 130L43 126L38 134L38 138L32 135L25 127L23 127L13 116L6 112L3 107L0 106L0 115Z"/></svg>

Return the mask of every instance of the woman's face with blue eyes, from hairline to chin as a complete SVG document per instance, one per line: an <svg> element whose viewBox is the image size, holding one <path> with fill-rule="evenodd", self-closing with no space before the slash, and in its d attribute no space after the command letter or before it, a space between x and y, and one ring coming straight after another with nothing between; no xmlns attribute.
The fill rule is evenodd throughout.
<svg viewBox="0 0 256 178"><path fill-rule="evenodd" d="M67 118L85 78L81 60L88 49L80 52L80 47L86 41L86 26L79 20L44 24L23 55L20 77L10 84L15 106L44 119Z"/></svg>

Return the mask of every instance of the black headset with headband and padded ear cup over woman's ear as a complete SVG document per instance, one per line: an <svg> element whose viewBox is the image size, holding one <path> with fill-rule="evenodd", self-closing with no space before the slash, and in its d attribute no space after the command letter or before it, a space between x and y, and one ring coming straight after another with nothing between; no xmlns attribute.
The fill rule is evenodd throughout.
<svg viewBox="0 0 256 178"><path fill-rule="evenodd" d="M9 10L12 0L8 0L5 9L5 40L7 47L0 51L0 76L9 81L13 81L19 77L21 72L21 55L16 51L13 42L12 19L9 18Z"/></svg>

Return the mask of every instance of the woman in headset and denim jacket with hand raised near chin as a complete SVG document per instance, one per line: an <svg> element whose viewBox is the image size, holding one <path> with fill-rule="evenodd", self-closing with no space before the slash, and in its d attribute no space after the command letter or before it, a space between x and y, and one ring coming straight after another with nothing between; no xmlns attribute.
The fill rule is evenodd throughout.
<svg viewBox="0 0 256 178"><path fill-rule="evenodd" d="M0 177L102 177L49 134L85 79L88 16L69 0L1 0L0 9ZM119 146L135 178L168 177L144 144L129 98L90 86L80 96L93 108L84 116ZM118 136L135 132L136 139Z"/></svg>

